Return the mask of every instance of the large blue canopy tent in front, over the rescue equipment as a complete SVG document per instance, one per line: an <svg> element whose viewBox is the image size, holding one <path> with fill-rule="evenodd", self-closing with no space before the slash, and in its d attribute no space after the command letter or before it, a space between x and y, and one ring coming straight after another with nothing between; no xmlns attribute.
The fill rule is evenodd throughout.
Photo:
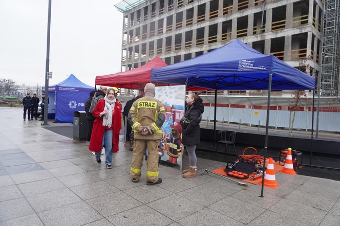
<svg viewBox="0 0 340 226"><path fill-rule="evenodd" d="M273 55L265 55L250 48L239 39L199 57L152 69L151 81L215 89L214 130L216 130L218 90L267 89L269 92L264 145L265 159L271 90L315 89L314 77L294 69ZM216 137L214 144L215 140ZM261 196L263 197L263 189Z"/></svg>

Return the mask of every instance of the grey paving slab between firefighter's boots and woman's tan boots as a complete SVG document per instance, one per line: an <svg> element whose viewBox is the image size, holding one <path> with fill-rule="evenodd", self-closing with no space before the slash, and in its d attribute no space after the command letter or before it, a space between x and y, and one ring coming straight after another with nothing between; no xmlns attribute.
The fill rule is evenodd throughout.
<svg viewBox="0 0 340 226"><path fill-rule="evenodd" d="M190 179L188 178L183 178L182 173L180 176L173 176L170 178L165 178L163 179L162 184L157 185L161 188L164 188L168 191L177 193L184 191L189 188L196 187L197 185L190 182Z"/></svg>

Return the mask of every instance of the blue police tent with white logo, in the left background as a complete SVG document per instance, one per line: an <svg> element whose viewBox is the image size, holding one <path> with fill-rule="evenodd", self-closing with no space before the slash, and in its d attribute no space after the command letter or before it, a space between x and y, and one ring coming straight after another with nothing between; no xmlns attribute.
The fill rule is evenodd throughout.
<svg viewBox="0 0 340 226"><path fill-rule="evenodd" d="M73 112L84 110L84 103L93 90L94 87L81 82L74 75L49 86L49 115L54 113L54 108L56 122L73 123ZM42 87L42 92L45 92L45 86Z"/></svg>

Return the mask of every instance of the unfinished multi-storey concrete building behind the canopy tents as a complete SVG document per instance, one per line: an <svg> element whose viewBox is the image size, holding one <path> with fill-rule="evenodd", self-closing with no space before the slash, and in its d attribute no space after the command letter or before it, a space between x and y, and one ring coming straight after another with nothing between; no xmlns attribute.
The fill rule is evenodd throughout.
<svg viewBox="0 0 340 226"><path fill-rule="evenodd" d="M311 76L320 71L324 4L319 0L131 2L116 5L124 18L122 71L141 66L156 55L167 64L187 60L235 38ZM251 95L262 95L262 91Z"/></svg>

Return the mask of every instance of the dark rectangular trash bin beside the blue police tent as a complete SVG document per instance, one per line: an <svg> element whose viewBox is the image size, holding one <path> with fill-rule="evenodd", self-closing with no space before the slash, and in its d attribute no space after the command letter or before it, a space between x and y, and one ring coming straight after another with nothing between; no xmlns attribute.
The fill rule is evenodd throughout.
<svg viewBox="0 0 340 226"><path fill-rule="evenodd" d="M73 112L73 140L86 141L88 125L86 123L86 111Z"/></svg>

